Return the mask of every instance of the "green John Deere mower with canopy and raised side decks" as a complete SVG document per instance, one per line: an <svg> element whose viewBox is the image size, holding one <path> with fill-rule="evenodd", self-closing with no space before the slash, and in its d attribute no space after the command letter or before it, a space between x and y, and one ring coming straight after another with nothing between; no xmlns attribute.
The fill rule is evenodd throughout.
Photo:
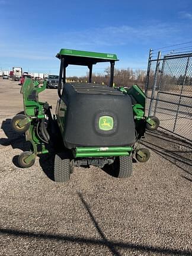
<svg viewBox="0 0 192 256"><path fill-rule="evenodd" d="M114 64L117 56L108 53L61 49L56 116L47 102L39 101L39 93L46 89L46 81L39 84L25 79L21 88L24 114L12 119L12 128L25 133L31 151L18 157L21 168L31 167L37 155L54 149L54 180L69 181L74 167L94 165L107 168L117 178L132 175L132 160L146 162L148 149L139 148L146 129L159 126L156 117L145 116L146 95L137 86L113 87ZM92 83L92 66L110 63L109 85ZM68 65L87 66L89 81L66 82Z"/></svg>

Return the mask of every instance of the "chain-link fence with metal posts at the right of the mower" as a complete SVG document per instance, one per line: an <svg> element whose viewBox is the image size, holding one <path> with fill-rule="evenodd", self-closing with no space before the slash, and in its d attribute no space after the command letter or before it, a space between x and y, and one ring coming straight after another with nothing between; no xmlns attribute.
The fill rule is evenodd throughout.
<svg viewBox="0 0 192 256"><path fill-rule="evenodd" d="M149 53L145 92L149 116L160 128L192 140L192 53L152 57Z"/></svg>

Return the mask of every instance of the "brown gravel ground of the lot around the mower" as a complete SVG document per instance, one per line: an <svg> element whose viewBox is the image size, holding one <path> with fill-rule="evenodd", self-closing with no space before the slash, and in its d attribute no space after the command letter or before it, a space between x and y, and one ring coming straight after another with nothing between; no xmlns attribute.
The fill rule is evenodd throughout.
<svg viewBox="0 0 192 256"><path fill-rule="evenodd" d="M131 178L75 168L55 183L51 155L17 166L28 149L10 126L23 110L19 91L0 80L0 255L192 255L192 145L147 133L151 158ZM55 108L56 90L42 98Z"/></svg>

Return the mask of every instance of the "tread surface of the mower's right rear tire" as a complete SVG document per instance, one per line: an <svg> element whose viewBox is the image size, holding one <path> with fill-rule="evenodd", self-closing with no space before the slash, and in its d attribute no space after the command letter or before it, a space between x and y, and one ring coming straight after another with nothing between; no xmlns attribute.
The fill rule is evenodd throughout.
<svg viewBox="0 0 192 256"><path fill-rule="evenodd" d="M132 156L119 157L119 172L117 178L127 178L133 173Z"/></svg>

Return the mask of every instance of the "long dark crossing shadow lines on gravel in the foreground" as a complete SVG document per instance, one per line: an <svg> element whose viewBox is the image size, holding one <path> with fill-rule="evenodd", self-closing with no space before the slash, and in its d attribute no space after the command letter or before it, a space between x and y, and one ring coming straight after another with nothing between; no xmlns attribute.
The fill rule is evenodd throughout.
<svg viewBox="0 0 192 256"><path fill-rule="evenodd" d="M71 242L73 244L86 244L86 245L98 245L105 246L110 249L113 255L120 256L121 254L117 251L117 249L127 249L131 253L132 251L140 251L148 252L148 254L163 254L163 255L180 255L180 256L191 256L192 251L182 250L182 249L171 249L164 247L153 247L150 245L142 245L142 244L133 244L132 242L119 242L119 241L111 241L107 239L101 230L100 226L97 223L94 215L92 215L91 209L88 203L83 198L82 194L78 192L78 196L84 204L85 209L88 212L89 217L94 223L95 228L101 236L101 239L95 238L86 238L84 236L66 236L66 235L56 235L53 233L44 233L44 232L30 232L30 231L21 231L19 229L9 229L9 228L0 228L0 233L2 235L14 236L18 238L36 238L36 239L44 239L49 241L66 241ZM9 237L10 239L10 237Z"/></svg>

